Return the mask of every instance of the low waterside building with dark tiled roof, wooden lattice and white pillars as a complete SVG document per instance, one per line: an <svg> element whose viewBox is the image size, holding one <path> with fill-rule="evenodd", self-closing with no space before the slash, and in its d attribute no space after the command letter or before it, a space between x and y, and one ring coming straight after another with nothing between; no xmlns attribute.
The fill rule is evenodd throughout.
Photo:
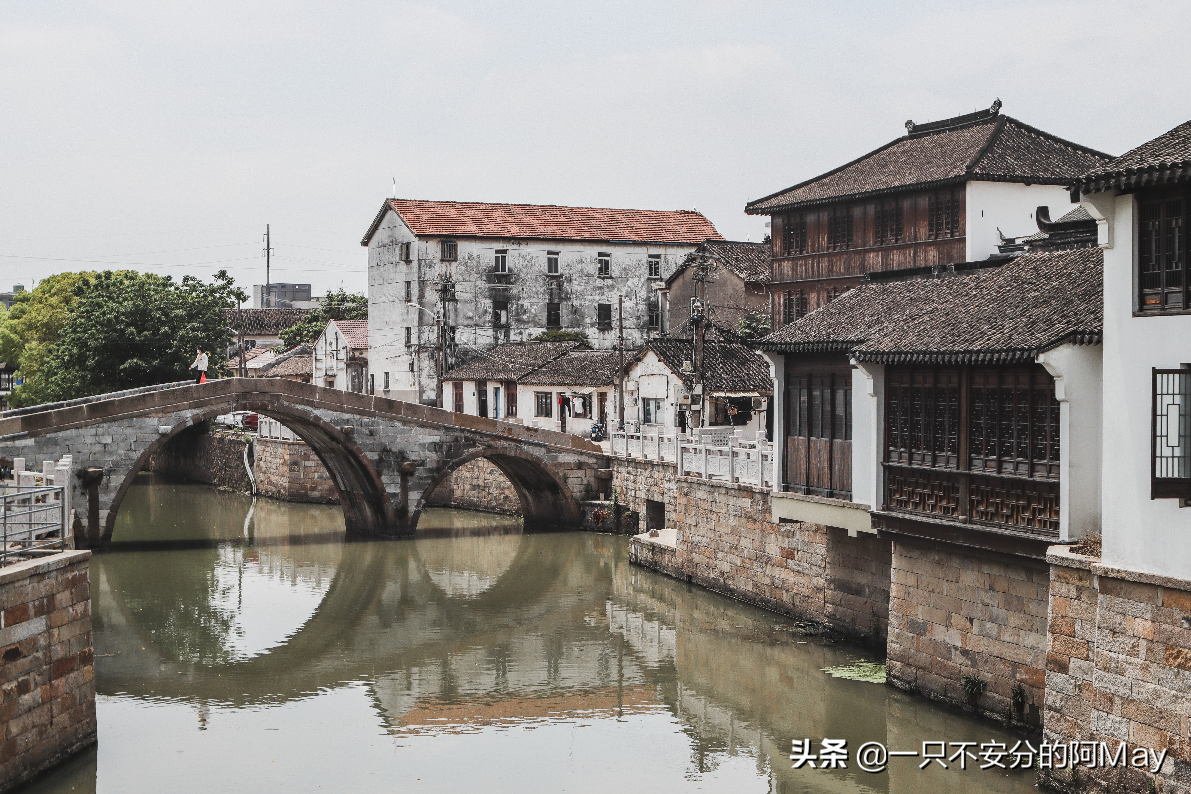
<svg viewBox="0 0 1191 794"><path fill-rule="evenodd" d="M765 339L794 497L775 516L925 536L1097 531L1100 285L1099 249L1030 253L866 284Z"/></svg>

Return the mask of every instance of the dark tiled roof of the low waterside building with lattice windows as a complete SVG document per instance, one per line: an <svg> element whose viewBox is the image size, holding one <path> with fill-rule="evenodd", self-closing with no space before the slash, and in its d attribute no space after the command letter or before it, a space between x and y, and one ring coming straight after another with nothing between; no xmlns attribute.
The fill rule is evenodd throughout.
<svg viewBox="0 0 1191 794"><path fill-rule="evenodd" d="M884 364L1010 364L1104 328L1099 248L1031 253L954 279L867 284L761 340Z"/></svg>

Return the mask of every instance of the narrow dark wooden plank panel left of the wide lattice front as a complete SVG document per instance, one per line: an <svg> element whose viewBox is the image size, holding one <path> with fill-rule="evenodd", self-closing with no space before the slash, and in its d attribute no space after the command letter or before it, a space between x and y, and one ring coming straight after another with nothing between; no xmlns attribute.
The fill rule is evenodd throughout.
<svg viewBox="0 0 1191 794"><path fill-rule="evenodd" d="M785 490L852 500L852 366L786 356Z"/></svg>

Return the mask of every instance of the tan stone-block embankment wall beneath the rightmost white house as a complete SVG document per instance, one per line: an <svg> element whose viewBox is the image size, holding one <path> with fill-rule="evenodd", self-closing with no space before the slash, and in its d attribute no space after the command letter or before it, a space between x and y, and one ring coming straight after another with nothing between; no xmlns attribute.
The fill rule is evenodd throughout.
<svg viewBox="0 0 1191 794"><path fill-rule="evenodd" d="M1067 546L1047 560L1046 738L1168 751L1156 775L1080 768L1097 790L1191 790L1191 582L1108 567Z"/></svg>

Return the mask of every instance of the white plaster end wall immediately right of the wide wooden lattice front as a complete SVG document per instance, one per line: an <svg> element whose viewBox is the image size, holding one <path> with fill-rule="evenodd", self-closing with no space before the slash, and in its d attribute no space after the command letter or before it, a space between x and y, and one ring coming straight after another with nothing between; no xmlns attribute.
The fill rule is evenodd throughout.
<svg viewBox="0 0 1191 794"><path fill-rule="evenodd" d="M1100 424L1104 348L1062 345L1037 356L1059 401L1059 538L1100 531Z"/></svg>

